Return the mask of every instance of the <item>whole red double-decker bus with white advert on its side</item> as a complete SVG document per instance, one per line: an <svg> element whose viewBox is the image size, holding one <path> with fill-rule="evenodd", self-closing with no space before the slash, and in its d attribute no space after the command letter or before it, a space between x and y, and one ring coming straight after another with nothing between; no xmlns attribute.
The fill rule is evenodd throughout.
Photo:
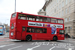
<svg viewBox="0 0 75 50"><path fill-rule="evenodd" d="M64 20L16 12L11 15L9 38L26 41L64 40Z"/></svg>

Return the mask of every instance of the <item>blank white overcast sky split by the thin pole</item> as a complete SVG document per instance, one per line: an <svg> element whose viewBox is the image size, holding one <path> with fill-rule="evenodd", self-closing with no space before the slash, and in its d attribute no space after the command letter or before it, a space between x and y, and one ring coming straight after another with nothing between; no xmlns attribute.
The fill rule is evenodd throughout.
<svg viewBox="0 0 75 50"><path fill-rule="evenodd" d="M45 0L16 0L16 11L37 14ZM15 0L0 0L0 22L10 25L11 14L15 11Z"/></svg>

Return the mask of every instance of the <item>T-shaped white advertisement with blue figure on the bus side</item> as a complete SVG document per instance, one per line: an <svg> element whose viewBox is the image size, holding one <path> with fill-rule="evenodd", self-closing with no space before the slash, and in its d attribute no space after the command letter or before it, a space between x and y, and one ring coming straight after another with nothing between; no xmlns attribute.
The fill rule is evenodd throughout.
<svg viewBox="0 0 75 50"><path fill-rule="evenodd" d="M48 24L48 23L38 23L38 22L28 22L28 26L51 27L51 34L56 34L57 28L63 28L63 25L59 24Z"/></svg>

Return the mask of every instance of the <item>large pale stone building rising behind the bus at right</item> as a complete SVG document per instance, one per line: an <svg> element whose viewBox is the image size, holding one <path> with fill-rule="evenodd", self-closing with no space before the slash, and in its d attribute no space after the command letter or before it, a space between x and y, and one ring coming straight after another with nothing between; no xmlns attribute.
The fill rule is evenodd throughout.
<svg viewBox="0 0 75 50"><path fill-rule="evenodd" d="M46 16L64 18L65 33L75 37L75 0L46 0L42 9Z"/></svg>

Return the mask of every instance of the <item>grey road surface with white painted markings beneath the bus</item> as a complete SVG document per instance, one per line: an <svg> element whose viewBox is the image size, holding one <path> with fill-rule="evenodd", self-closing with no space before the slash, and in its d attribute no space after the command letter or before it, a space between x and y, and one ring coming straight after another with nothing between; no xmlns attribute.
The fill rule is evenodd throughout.
<svg viewBox="0 0 75 50"><path fill-rule="evenodd" d="M2 36L0 36L2 37ZM33 40L30 42L0 38L0 50L75 50L75 39L60 41Z"/></svg>

